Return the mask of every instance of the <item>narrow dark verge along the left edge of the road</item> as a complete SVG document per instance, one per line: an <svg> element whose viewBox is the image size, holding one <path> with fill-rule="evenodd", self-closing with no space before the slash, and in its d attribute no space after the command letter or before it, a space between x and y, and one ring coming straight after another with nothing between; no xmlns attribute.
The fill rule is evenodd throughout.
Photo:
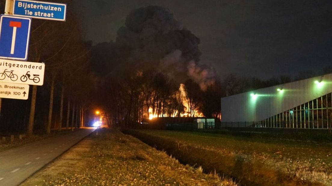
<svg viewBox="0 0 332 186"><path fill-rule="evenodd" d="M79 130L79 129L75 129L74 131ZM2 151L6 151L12 148L16 148L16 147L20 147L23 145L26 145L28 143L32 143L35 141L40 141L42 139L46 139L49 137L56 137L56 136L61 136L61 135L65 135L72 132L71 129L69 130L62 130L60 132L56 131L56 132L52 132L50 134L35 134L31 137L25 137L22 140L18 139L17 136L15 136L15 140L13 142L10 142L10 137L6 137L6 142L3 143L1 140L2 138L0 138L0 152Z"/></svg>

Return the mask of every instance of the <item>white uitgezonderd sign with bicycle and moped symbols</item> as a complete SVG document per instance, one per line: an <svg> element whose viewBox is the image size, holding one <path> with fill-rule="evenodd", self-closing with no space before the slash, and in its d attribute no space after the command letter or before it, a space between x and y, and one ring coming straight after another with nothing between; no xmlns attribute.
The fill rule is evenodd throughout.
<svg viewBox="0 0 332 186"><path fill-rule="evenodd" d="M0 59L0 82L44 84L45 64Z"/></svg>

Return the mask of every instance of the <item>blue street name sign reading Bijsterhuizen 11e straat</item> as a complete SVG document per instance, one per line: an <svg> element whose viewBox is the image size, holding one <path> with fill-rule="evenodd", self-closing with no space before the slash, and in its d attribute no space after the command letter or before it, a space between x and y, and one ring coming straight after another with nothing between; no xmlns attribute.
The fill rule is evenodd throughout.
<svg viewBox="0 0 332 186"><path fill-rule="evenodd" d="M49 3L43 1L14 0L14 15L66 21L67 5L62 3Z"/></svg>

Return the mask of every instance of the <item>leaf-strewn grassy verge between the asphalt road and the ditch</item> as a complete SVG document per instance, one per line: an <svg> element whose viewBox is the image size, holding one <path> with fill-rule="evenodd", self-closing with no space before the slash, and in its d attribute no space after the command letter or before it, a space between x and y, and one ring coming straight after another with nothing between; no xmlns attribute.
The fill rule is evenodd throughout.
<svg viewBox="0 0 332 186"><path fill-rule="evenodd" d="M165 152L124 135L101 129L38 171L30 185L206 185L235 186L202 168L184 166Z"/></svg>

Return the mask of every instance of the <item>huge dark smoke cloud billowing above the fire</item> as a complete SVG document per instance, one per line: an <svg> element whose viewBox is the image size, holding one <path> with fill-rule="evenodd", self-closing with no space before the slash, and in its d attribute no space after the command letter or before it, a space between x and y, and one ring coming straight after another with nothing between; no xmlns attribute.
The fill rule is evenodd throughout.
<svg viewBox="0 0 332 186"><path fill-rule="evenodd" d="M167 73L180 83L192 78L202 89L213 83L214 71L198 65L200 39L183 28L167 9L148 6L132 10L118 30L116 44L128 57L125 66Z"/></svg>

